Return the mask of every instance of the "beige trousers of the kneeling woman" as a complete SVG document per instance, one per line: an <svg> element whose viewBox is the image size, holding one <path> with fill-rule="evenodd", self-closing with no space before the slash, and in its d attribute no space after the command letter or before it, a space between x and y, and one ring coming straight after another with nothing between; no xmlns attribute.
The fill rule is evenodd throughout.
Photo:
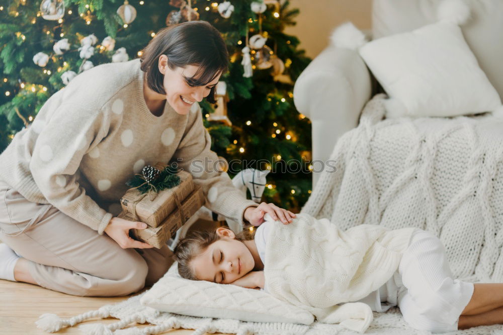
<svg viewBox="0 0 503 335"><path fill-rule="evenodd" d="M78 296L124 296L153 285L174 262L162 248L123 249L106 233L0 180L0 240L29 260L38 285Z"/></svg>

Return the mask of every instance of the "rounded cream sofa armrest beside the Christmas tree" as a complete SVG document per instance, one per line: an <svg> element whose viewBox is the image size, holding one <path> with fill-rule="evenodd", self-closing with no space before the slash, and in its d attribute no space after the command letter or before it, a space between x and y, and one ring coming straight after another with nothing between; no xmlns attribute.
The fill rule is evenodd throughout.
<svg viewBox="0 0 503 335"><path fill-rule="evenodd" d="M298 77L293 99L311 120L313 188L317 167L324 166L339 137L358 126L371 92L370 73L356 50L329 46Z"/></svg>

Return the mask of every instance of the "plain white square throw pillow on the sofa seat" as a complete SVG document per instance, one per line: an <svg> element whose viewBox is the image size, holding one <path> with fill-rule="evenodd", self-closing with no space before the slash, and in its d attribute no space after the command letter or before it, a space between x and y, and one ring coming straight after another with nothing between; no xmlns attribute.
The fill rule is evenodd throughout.
<svg viewBox="0 0 503 335"><path fill-rule="evenodd" d="M448 20L368 42L359 51L390 97L388 118L457 116L501 106L461 28Z"/></svg>

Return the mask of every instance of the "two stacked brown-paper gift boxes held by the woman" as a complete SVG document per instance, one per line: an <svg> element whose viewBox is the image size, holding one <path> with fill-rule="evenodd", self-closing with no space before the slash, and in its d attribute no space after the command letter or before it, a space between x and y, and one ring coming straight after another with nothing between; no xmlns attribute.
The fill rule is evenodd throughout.
<svg viewBox="0 0 503 335"><path fill-rule="evenodd" d="M154 167L163 170L165 164ZM183 170L176 175L180 184L157 192L153 199L138 189L127 191L121 198L122 213L118 217L147 224L145 229L131 229L132 238L161 248L204 205L203 191L194 184L192 175Z"/></svg>

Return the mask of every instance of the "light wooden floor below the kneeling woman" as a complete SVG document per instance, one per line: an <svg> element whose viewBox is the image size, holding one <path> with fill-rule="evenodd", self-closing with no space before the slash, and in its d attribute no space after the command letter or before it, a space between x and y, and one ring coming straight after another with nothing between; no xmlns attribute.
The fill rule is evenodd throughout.
<svg viewBox="0 0 503 335"><path fill-rule="evenodd" d="M146 289L135 293L140 294ZM132 294L131 296L135 295ZM62 318L72 317L90 310L98 309L103 305L126 300L127 297L77 297L55 292L40 286L11 282L0 279L0 334L2 335L35 335L48 334L39 330L35 324L38 317L44 313L53 313ZM79 324L113 323L115 318L93 318ZM146 327L149 324L139 325ZM78 325L63 328L56 334L81 334ZM170 335L188 335L194 330L173 329L162 332ZM218 334L218 333L217 333Z"/></svg>

